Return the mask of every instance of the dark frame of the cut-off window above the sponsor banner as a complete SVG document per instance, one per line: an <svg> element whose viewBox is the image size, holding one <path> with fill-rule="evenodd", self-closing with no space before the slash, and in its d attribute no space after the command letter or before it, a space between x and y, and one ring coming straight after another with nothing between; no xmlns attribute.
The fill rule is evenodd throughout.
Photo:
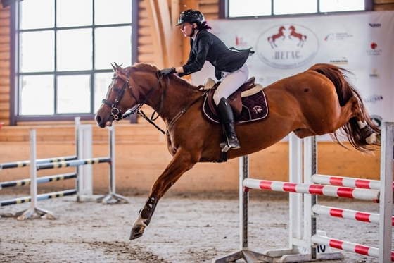
<svg viewBox="0 0 394 263"><path fill-rule="evenodd" d="M239 16L236 18L229 18L229 0L219 0L219 19L256 19L256 18L274 18L274 17L286 17L286 16L322 16L328 13L355 13L355 12L367 12L374 11L374 0L364 0L364 11L337 11L337 12L320 12L319 3L317 0L317 13L297 13L297 14L286 14L286 15L274 15L274 1L271 0L271 15L269 16Z"/></svg>

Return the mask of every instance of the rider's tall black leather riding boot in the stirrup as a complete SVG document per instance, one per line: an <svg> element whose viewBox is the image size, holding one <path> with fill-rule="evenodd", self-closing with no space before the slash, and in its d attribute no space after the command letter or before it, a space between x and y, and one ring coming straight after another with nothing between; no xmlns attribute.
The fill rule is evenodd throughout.
<svg viewBox="0 0 394 263"><path fill-rule="evenodd" d="M229 147L230 149L239 149L239 141L235 134L234 129L234 114L227 99L220 99L219 104L217 104L217 112L219 113L222 123L224 125L224 130L226 130L227 143L222 142L220 147Z"/></svg>

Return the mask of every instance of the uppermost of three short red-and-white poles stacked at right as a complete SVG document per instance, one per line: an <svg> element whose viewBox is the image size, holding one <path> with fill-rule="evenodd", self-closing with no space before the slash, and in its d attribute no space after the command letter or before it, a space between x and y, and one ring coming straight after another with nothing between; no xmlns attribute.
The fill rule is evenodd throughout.
<svg viewBox="0 0 394 263"><path fill-rule="evenodd" d="M375 189L375 190L381 189L381 181L379 180L326 176L323 174L314 174L312 176L312 182L320 183L322 185L337 185L337 186L346 186L351 188L363 188L363 189ZM393 190L394 190L394 183L393 183Z"/></svg>

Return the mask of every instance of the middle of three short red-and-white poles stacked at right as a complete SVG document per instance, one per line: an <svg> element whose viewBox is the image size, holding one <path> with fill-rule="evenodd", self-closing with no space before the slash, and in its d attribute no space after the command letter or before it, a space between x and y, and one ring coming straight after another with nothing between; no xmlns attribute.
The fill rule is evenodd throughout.
<svg viewBox="0 0 394 263"><path fill-rule="evenodd" d="M372 214L349 209L340 209L336 207L325 207L319 204L315 204L312 207L312 212L314 212L314 214L322 214L324 216L333 216L342 219L352 219L356 221L363 221L375 224L379 224L380 220L379 214ZM391 226L394 226L394 217L392 217Z"/></svg>

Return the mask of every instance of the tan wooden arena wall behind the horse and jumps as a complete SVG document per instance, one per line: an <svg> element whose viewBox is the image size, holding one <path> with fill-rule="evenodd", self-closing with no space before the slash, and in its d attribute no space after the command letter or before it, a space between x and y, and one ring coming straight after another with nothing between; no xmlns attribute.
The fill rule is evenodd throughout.
<svg viewBox="0 0 394 263"><path fill-rule="evenodd" d="M140 0L138 61L156 66L180 66L189 55L189 39L174 27L179 13L188 9L201 10L207 20L217 19L219 0ZM393 10L394 0L375 0L375 10ZM0 8L0 163L29 159L29 130L37 129L37 157L61 157L75 152L73 121L21 122L8 126L9 119L9 25L10 10ZM160 13L162 16L158 16ZM165 39L166 37L166 39ZM168 38L168 39L167 39ZM170 55L168 55L170 54ZM150 116L151 109L144 108ZM94 121L82 123L94 124ZM163 123L158 122L159 125ZM162 127L163 128L163 127ZM165 169L171 156L167 152L165 138L144 119L130 125L121 121L115 126L117 191L124 195L136 195L150 190L155 178ZM94 126L94 157L108 155L108 132ZM364 156L348 151L330 142L319 143L319 173L357 178L379 178L379 152ZM66 169L67 170L67 169ZM0 171L1 181L28 178L28 169ZM40 171L39 176L67 171ZM288 145L279 142L262 152L250 156L250 176L286 181L288 178ZM217 192L238 190L238 160L227 164L197 164L188 171L172 192ZM56 186L53 186L56 185ZM42 191L61 190L70 182L57 182L40 186ZM28 188L13 188L19 191ZM94 166L94 190L108 191L108 167ZM7 193L10 190L1 190Z"/></svg>

